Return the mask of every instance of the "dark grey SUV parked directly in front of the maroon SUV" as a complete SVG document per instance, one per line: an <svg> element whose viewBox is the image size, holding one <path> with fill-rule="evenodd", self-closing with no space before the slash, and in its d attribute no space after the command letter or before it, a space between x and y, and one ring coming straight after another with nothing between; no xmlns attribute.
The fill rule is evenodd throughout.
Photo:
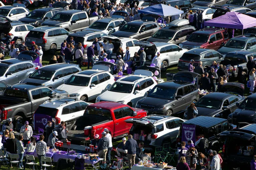
<svg viewBox="0 0 256 170"><path fill-rule="evenodd" d="M213 49L204 49L204 48L194 48L185 52L179 59L178 70L188 71L188 65L190 60L193 59L194 67L197 67L199 62L202 62L202 67L205 71L210 71L210 66L213 61L220 63L223 60L223 56L213 50Z"/></svg>

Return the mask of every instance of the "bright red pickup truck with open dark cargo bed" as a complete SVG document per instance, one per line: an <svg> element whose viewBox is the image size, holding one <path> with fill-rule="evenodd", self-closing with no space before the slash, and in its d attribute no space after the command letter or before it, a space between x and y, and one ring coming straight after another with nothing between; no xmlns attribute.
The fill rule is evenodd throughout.
<svg viewBox="0 0 256 170"><path fill-rule="evenodd" d="M126 136L132 124L125 120L147 116L142 109L131 108L128 105L115 102L99 102L88 105L84 115L77 119L75 126L68 131L71 140L93 139L95 134L101 134L108 128L113 138ZM100 135L101 136L101 135Z"/></svg>

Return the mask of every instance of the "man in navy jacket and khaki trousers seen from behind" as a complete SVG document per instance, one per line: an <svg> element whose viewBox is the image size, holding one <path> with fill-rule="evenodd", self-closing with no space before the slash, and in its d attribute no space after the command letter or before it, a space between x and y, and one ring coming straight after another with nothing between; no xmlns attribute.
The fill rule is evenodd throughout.
<svg viewBox="0 0 256 170"><path fill-rule="evenodd" d="M128 141L125 144L125 149L127 150L128 156L128 169L131 170L132 166L135 164L136 148L138 147L137 141L132 138L132 135L128 135Z"/></svg>

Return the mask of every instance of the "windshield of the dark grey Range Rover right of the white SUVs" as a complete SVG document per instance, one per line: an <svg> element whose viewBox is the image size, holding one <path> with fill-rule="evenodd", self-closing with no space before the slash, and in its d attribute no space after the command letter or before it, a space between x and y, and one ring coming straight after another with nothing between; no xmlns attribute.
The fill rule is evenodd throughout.
<svg viewBox="0 0 256 170"><path fill-rule="evenodd" d="M176 89L155 86L148 94L148 97L173 100Z"/></svg>

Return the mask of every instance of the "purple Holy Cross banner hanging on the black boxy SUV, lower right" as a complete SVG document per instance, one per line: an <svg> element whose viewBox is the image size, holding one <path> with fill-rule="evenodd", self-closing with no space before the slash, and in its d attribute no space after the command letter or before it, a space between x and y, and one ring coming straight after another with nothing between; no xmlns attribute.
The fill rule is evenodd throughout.
<svg viewBox="0 0 256 170"><path fill-rule="evenodd" d="M185 141L186 143L188 140L192 140L193 143L196 140L196 126L195 125L186 125L182 124L182 141Z"/></svg>

